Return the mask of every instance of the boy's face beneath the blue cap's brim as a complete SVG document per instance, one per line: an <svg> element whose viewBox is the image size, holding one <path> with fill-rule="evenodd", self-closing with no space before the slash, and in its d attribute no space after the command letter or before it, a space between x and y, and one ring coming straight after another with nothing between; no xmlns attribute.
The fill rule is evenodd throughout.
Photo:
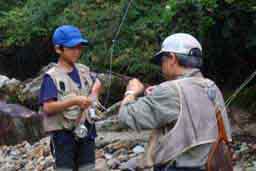
<svg viewBox="0 0 256 171"><path fill-rule="evenodd" d="M56 52L68 63L75 63L80 58L83 50L83 45L77 45L72 48L64 47L62 49L56 48Z"/></svg>

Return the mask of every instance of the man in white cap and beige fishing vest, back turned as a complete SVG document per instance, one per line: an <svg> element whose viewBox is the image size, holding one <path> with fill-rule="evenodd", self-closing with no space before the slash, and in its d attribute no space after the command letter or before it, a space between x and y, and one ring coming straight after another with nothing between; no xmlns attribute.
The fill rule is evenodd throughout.
<svg viewBox="0 0 256 171"><path fill-rule="evenodd" d="M218 136L216 108L222 111L230 141L231 130L220 90L200 72L202 47L189 34L173 34L153 62L161 66L167 81L145 90L138 79L131 80L119 110L119 120L129 127L153 129L147 151L121 168L205 170ZM144 91L146 95L138 97Z"/></svg>

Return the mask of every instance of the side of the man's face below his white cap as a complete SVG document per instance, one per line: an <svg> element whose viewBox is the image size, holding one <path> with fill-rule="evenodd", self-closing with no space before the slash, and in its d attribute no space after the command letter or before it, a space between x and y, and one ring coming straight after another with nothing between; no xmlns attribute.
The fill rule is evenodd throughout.
<svg viewBox="0 0 256 171"><path fill-rule="evenodd" d="M175 60L176 57L172 53L163 56L161 59L162 73L167 80L173 79L175 77Z"/></svg>

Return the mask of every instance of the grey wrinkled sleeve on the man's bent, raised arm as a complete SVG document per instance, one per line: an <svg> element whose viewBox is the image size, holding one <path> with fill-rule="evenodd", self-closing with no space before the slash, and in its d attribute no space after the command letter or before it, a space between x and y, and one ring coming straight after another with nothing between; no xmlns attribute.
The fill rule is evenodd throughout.
<svg viewBox="0 0 256 171"><path fill-rule="evenodd" d="M177 120L179 111L178 89L173 83L166 82L156 86L152 95L123 105L119 119L132 129L152 129Z"/></svg>

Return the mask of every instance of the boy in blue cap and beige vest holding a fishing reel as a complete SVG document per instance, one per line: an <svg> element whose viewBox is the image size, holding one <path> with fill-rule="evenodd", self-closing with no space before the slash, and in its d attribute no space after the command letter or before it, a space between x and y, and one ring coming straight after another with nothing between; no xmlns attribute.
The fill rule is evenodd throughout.
<svg viewBox="0 0 256 171"><path fill-rule="evenodd" d="M78 28L60 26L52 40L59 58L41 85L39 101L46 113L44 130L51 135L57 170L91 171L95 167L96 129L86 116L93 102L91 97L97 98L101 83L90 75L87 66L76 63L83 46L88 44ZM84 136L74 131L81 124L82 132L87 133Z"/></svg>

